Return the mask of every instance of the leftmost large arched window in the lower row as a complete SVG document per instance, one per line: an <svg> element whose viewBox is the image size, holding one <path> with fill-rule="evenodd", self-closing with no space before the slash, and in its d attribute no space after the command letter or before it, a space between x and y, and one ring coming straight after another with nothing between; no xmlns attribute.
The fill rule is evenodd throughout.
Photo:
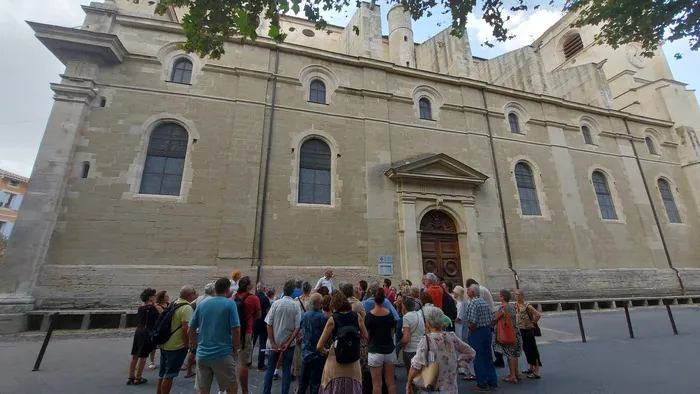
<svg viewBox="0 0 700 394"><path fill-rule="evenodd" d="M175 123L164 123L153 130L139 193L180 195L187 139L187 130Z"/></svg>

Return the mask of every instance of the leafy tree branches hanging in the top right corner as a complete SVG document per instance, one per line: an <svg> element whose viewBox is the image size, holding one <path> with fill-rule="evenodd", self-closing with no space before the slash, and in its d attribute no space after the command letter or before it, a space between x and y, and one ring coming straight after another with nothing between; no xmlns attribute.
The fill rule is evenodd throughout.
<svg viewBox="0 0 700 394"><path fill-rule="evenodd" d="M691 50L700 49L698 0L567 0L564 10L579 14L575 27L600 26L596 40L613 48L637 42L651 57L664 39L688 38Z"/></svg>

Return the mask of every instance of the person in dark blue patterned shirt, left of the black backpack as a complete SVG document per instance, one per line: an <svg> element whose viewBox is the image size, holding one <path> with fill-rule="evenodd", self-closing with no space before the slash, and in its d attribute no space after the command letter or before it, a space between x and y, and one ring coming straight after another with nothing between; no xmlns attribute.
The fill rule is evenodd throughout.
<svg viewBox="0 0 700 394"><path fill-rule="evenodd" d="M311 387L311 394L318 394L321 388L321 376L323 366L326 364L326 356L318 352L316 345L326 327L326 322L328 322L328 316L321 312L322 299L321 294L312 294L309 301L311 307L301 317L302 368L298 390L300 393L306 393L306 389Z"/></svg>

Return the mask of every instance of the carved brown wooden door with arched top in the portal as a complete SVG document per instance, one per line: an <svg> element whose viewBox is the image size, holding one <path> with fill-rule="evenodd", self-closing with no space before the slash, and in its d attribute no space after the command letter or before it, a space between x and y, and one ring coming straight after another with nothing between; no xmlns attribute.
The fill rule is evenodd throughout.
<svg viewBox="0 0 700 394"><path fill-rule="evenodd" d="M459 239L454 221L446 213L430 211L420 222L423 274L432 272L455 285L464 283Z"/></svg>

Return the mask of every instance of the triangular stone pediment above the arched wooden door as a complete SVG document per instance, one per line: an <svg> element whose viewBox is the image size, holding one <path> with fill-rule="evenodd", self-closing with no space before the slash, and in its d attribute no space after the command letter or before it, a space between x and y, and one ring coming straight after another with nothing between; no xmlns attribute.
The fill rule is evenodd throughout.
<svg viewBox="0 0 700 394"><path fill-rule="evenodd" d="M394 181L410 180L467 185L481 185L488 179L488 176L444 153L422 159L409 159L405 164L392 166L384 175Z"/></svg>

